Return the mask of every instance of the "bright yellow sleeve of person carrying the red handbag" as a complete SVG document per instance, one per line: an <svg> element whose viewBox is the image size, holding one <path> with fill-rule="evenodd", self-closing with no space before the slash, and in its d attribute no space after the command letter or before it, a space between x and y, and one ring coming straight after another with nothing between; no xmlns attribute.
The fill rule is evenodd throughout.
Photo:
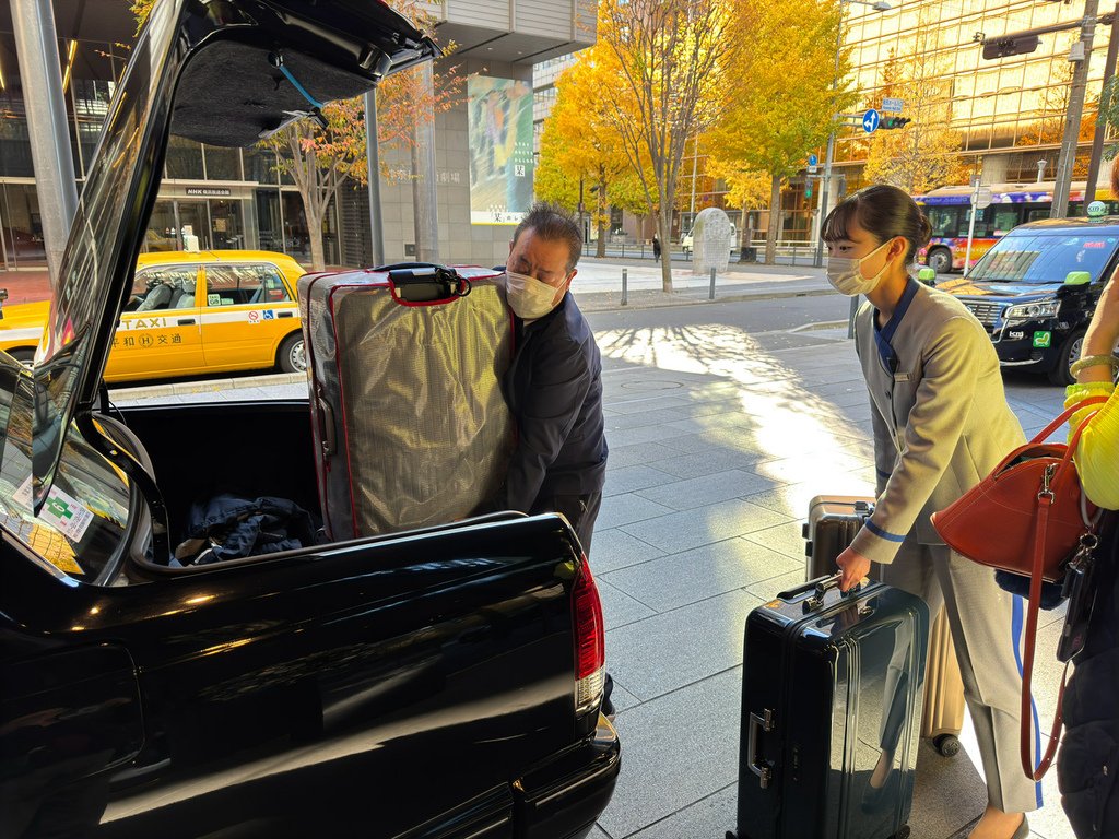
<svg viewBox="0 0 1119 839"><path fill-rule="evenodd" d="M1073 414L1069 434L1075 431L1092 411L1099 413L1084 428L1076 449L1076 472L1092 503L1108 510L1119 509L1119 390L1107 381L1070 385L1064 406L1072 407L1089 396L1108 396L1102 405L1093 405Z"/></svg>

